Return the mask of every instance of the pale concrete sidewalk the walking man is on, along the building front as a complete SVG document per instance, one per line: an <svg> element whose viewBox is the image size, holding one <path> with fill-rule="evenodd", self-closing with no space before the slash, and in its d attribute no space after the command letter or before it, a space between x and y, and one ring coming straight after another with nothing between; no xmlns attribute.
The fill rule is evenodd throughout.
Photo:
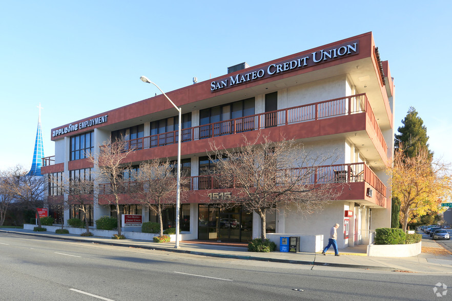
<svg viewBox="0 0 452 301"><path fill-rule="evenodd" d="M169 252L180 252L212 257L223 257L241 260L270 261L291 264L304 264L329 267L345 267L369 270L418 272L418 273L451 273L452 255L441 252L435 254L422 252L412 257L369 257L366 254L367 246L359 245L340 249L340 256L334 256L333 252L327 252L326 256L321 253L254 253L248 252L246 246L225 246L219 244L203 244L202 242L180 242L179 249L174 248L172 243L154 243L142 240L112 240L99 236L85 237L77 234L56 234L54 232L34 232L24 229L0 229L0 233L13 233L23 235L34 235L40 237L70 240L86 243L97 243L123 247L134 247ZM422 240L423 249L444 250L438 243L432 240ZM439 248L439 249L438 249Z"/></svg>

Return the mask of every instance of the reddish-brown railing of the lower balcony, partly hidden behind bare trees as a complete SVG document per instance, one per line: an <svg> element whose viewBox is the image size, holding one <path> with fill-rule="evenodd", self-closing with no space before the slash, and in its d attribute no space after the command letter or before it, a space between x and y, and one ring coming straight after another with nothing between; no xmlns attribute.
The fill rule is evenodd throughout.
<svg viewBox="0 0 452 301"><path fill-rule="evenodd" d="M354 183L366 182L381 195L386 196L386 186L378 179L374 171L364 163L336 164L327 166L294 168L284 171L286 174L306 173L309 175L303 184L326 184L326 183ZM202 190L202 189L227 189L240 188L235 178L215 177L213 175L190 177L190 184L182 185L182 190ZM251 177L250 177L251 179ZM139 182L126 182L119 189L119 193L134 193L137 189L142 189ZM99 193L109 195L112 193L110 183L99 184Z"/></svg>

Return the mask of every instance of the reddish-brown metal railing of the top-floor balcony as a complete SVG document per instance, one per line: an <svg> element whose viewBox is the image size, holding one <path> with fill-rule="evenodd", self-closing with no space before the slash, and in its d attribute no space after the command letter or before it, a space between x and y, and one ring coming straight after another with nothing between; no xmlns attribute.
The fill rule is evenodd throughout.
<svg viewBox="0 0 452 301"><path fill-rule="evenodd" d="M365 94L346 96L283 110L266 112L231 120L225 120L205 125L184 128L181 131L181 142L232 135L262 128L301 123L305 121L321 120L337 116L345 116L366 112L372 122L377 137L385 149L386 142L381 134L372 107ZM178 131L172 131L128 141L126 148L140 150L177 143Z"/></svg>

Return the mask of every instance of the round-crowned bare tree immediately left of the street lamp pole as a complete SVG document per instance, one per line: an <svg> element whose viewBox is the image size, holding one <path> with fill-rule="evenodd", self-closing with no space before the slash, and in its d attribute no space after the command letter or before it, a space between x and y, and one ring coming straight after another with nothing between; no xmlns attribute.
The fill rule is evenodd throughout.
<svg viewBox="0 0 452 301"><path fill-rule="evenodd" d="M160 236L163 235L161 212L176 203L177 174L174 173L174 168L174 165L168 159L166 161L155 159L141 163L135 175L139 185L132 197L147 205L150 210L157 214L160 223ZM180 177L181 187L187 183L187 178Z"/></svg>

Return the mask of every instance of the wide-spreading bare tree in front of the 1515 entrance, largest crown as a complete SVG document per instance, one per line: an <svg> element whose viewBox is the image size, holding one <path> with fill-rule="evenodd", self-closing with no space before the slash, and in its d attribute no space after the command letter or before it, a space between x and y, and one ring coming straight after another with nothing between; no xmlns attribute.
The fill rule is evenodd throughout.
<svg viewBox="0 0 452 301"><path fill-rule="evenodd" d="M225 206L242 205L256 211L261 219L261 238L266 238L265 213L295 207L298 213L320 211L337 199L340 184L331 183L325 164L332 164L335 154L315 154L294 140L272 142L260 133L234 149L222 149L211 143L217 170L213 174L219 188L236 188ZM220 159L221 158L221 159Z"/></svg>

